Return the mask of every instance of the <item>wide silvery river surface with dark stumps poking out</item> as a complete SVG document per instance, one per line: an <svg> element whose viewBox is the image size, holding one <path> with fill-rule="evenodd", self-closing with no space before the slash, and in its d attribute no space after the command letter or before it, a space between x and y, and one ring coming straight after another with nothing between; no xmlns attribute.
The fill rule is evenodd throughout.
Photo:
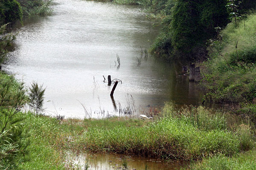
<svg viewBox="0 0 256 170"><path fill-rule="evenodd" d="M175 74L181 70L177 65L141 56L160 28L153 27L156 21L148 20L138 7L55 0L52 8L52 16L24 22L3 68L26 85L32 80L44 83L48 113L83 118L81 103L92 112L111 112L117 103L127 105L127 94L134 97L137 111L171 100L180 105L201 102L195 83ZM103 75L122 80L114 99L113 84L104 83Z"/></svg>

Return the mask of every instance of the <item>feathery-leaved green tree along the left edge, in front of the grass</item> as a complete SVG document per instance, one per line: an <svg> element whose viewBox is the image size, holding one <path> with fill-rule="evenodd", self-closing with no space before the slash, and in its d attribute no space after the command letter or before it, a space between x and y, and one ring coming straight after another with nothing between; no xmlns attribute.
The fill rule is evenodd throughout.
<svg viewBox="0 0 256 170"><path fill-rule="evenodd" d="M17 169L28 153L29 133L20 108L26 103L23 83L0 74L0 169Z"/></svg>

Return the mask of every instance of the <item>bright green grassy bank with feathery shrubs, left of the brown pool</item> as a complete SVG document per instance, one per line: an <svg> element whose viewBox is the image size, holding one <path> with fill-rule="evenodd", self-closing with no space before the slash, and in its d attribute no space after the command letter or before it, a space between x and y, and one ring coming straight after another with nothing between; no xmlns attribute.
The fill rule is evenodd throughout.
<svg viewBox="0 0 256 170"><path fill-rule="evenodd" d="M59 148L67 130L56 119L21 112L25 93L22 83L0 73L0 169L64 169Z"/></svg>

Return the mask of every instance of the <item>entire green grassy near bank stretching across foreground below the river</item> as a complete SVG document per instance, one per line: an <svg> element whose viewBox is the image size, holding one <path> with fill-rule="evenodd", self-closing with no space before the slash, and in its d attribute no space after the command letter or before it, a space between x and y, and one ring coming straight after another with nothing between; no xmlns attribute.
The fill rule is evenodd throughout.
<svg viewBox="0 0 256 170"><path fill-rule="evenodd" d="M12 79L6 74L0 77L2 80ZM17 88L19 83L12 80L11 84L13 88L9 89L14 90L9 91L3 88L4 81L1 81L1 89L6 89L7 96L15 98L17 94L20 95L20 88ZM71 169L72 162L66 160L67 150L71 149L191 162L212 156L235 156L255 146L254 131L250 124L241 122L228 125L224 113L203 107L176 109L175 105L166 104L153 120L129 116L58 120L57 117L13 111L10 108L13 102L9 101L8 105L0 106L7 111L6 116L14 115L5 133L0 136L1 146L6 147L6 152L0 153L4 168L16 165L16 169L23 170ZM25 102L26 98L22 103ZM1 120L5 120L5 115L1 114ZM18 130L18 133L13 133L13 129ZM6 143L10 134L19 136L14 138L14 143ZM17 143L20 145L15 145ZM10 153L10 150L15 150L15 154ZM5 158L3 155L6 153L10 155ZM12 161L8 158L12 158Z"/></svg>

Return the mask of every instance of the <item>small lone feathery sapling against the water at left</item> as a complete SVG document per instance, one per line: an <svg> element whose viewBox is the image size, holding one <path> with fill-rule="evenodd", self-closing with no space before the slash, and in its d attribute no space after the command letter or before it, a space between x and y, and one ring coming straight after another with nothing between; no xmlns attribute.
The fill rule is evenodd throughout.
<svg viewBox="0 0 256 170"><path fill-rule="evenodd" d="M43 88L43 85L38 86L38 82L32 82L31 88L29 88L29 106L35 110L36 114L44 110L44 92L45 88Z"/></svg>

